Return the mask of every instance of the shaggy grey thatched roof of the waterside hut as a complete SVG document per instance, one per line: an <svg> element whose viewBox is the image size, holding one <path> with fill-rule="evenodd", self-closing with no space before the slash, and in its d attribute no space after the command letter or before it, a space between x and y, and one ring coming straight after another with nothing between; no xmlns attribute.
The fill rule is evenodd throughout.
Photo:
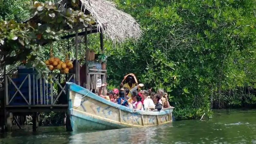
<svg viewBox="0 0 256 144"><path fill-rule="evenodd" d="M70 1L61 0L58 4L72 7ZM89 11L96 20L98 31L101 29L106 38L123 42L126 39L138 39L142 35L137 21L129 14L118 10L113 2L107 0L80 0L80 2L80 9L86 14ZM39 18L34 16L32 19Z"/></svg>

